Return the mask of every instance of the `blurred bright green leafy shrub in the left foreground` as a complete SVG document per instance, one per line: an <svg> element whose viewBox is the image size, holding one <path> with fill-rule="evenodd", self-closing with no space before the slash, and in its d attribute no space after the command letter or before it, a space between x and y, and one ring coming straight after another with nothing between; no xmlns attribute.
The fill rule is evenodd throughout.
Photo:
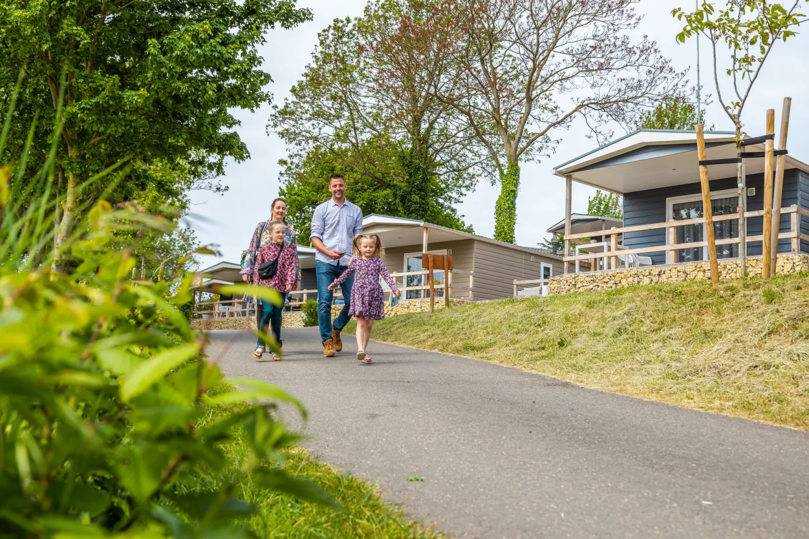
<svg viewBox="0 0 809 539"><path fill-rule="evenodd" d="M331 503L269 464L299 439L273 402L305 417L299 401L226 380L203 358L205 342L180 311L192 277L168 297L166 281L128 280L132 246L109 248L120 231L172 223L102 200L55 249L53 160L10 179L0 167L0 535L250 537L233 521L252 511L235 496L243 480ZM24 210L21 186L40 193ZM52 270L66 253L70 263ZM248 452L234 467L223 446L237 433ZM229 464L236 471L212 489Z"/></svg>

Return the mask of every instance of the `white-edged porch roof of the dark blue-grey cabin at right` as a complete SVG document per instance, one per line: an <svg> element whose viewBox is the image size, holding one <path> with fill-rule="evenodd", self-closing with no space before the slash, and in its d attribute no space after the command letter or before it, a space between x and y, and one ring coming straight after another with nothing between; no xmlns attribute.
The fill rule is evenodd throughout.
<svg viewBox="0 0 809 539"><path fill-rule="evenodd" d="M705 131L706 159L736 157L731 131ZM743 138L748 138L743 135ZM747 147L747 151L764 151L764 144ZM553 169L561 177L572 176L574 181L624 194L671 185L692 184L699 181L697 159L697 132L693 130L640 129L618 138L595 150ZM809 172L809 165L786 156L786 168L799 168ZM764 159L748 159L748 174L764 172ZM735 163L708 168L710 180L736 176Z"/></svg>

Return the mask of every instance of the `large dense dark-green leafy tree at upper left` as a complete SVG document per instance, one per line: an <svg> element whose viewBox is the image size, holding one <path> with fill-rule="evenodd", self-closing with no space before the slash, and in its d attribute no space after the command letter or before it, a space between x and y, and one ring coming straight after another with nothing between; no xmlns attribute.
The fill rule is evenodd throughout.
<svg viewBox="0 0 809 539"><path fill-rule="evenodd" d="M33 147L44 148L42 161L42 142L61 125L56 246L108 188L83 182L113 163L134 167L120 193L106 193L123 202L150 186L210 184L226 158L248 159L229 109L269 102L256 46L268 28L307 19L311 11L293 0L0 0L0 102L10 104L20 70L24 77L10 140L21 146L39 115Z"/></svg>

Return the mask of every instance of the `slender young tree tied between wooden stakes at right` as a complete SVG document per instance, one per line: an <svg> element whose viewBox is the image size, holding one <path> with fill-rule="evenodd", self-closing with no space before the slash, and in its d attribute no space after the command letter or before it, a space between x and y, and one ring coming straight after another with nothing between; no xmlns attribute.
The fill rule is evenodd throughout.
<svg viewBox="0 0 809 539"><path fill-rule="evenodd" d="M742 140L742 112L748 101L753 84L756 83L765 60L779 40L786 41L795 35L792 28L801 23L798 5L802 0L787 2L787 7L767 0L727 0L725 9L714 7L712 3L702 2L700 9L693 12L677 8L671 15L678 20L685 20L683 31L677 34L677 40L685 43L688 37L701 33L707 36L711 44L714 65L714 83L719 103L736 129L736 143ZM809 2L809 0L803 0ZM726 45L725 51L718 50L721 41ZM730 53L730 67L719 66L720 57ZM720 84L720 76L724 84ZM738 146L739 151L741 146ZM742 273L745 271L747 256L744 242L746 225L743 217L746 211L744 204L744 179L742 164L736 167L739 197L739 257Z"/></svg>

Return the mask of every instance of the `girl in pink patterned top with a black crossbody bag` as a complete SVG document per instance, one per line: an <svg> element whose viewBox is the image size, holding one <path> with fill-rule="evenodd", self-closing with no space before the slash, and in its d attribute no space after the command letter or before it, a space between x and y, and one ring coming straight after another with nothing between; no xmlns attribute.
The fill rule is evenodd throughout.
<svg viewBox="0 0 809 539"><path fill-rule="evenodd" d="M292 245L285 245L286 224L282 221L269 223L270 243L258 249L256 261L253 264L252 282L258 286L269 286L278 291L282 296L294 290L295 281L298 279L298 248ZM261 278L261 266L265 262L276 261L275 273L269 278ZM273 305L268 301L259 299L262 303L261 320L259 328L263 333L272 335L278 345L281 345L281 319L284 310L281 305ZM258 337L258 346L253 355L260 358L267 350L265 342ZM273 352L273 361L280 361L281 356Z"/></svg>

